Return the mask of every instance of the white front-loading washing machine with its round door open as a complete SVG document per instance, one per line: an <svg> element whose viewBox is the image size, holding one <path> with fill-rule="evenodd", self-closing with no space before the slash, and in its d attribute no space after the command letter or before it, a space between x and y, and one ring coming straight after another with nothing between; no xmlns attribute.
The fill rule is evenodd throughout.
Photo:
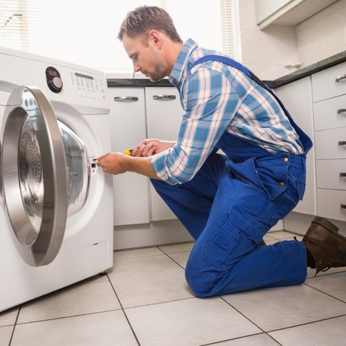
<svg viewBox="0 0 346 346"><path fill-rule="evenodd" d="M113 264L104 73L0 47L0 311Z"/></svg>

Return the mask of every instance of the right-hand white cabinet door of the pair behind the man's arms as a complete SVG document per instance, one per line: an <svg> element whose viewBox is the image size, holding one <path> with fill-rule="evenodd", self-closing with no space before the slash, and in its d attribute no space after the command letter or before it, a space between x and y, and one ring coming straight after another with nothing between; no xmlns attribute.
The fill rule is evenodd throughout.
<svg viewBox="0 0 346 346"><path fill-rule="evenodd" d="M145 88L147 102L147 135L148 138L176 140L183 114L179 92L172 87ZM150 185L152 221L176 219L165 202Z"/></svg>

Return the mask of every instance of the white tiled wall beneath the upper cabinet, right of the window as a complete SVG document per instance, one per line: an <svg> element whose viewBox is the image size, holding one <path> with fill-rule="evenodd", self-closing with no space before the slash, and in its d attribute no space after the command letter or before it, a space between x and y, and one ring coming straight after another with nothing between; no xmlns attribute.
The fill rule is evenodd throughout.
<svg viewBox="0 0 346 346"><path fill-rule="evenodd" d="M295 68L346 50L346 0L339 0L298 26L256 24L255 0L239 0L243 64L263 80L273 80Z"/></svg>

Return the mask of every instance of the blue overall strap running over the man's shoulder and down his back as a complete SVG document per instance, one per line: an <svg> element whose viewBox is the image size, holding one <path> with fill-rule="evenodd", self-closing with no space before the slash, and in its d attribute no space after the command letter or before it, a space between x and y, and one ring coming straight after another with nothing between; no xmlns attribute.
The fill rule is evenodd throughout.
<svg viewBox="0 0 346 346"><path fill-rule="evenodd" d="M277 95L275 95L275 93L273 92L273 90L271 90L271 88L269 88L268 85L266 85L262 80L260 80L260 78L258 78L257 75L254 75L249 69L247 69L244 65L240 64L239 62L236 62L230 57L225 57L223 55L205 55L199 58L198 60L196 60L194 64L192 64L192 68L198 64L201 64L202 62L208 62L208 61L222 62L223 64L232 66L235 69L242 71L245 75L251 78L251 80L253 80L257 84L262 86L262 88L266 89L266 91L271 93L271 95L274 96L275 100L277 100L277 102L280 104L280 107L282 107L286 116L289 118L291 125L293 126L295 131L297 131L300 139L303 140L304 138L303 145L304 145L305 151L307 152L312 147L311 139L309 138L309 136L307 136L307 134L304 133L304 131L302 131L302 129L300 129L300 127L298 127L297 124L295 124L294 120L291 117L291 114L289 113L289 111L287 111L286 107L284 107L284 104L281 102L280 98L278 98Z"/></svg>

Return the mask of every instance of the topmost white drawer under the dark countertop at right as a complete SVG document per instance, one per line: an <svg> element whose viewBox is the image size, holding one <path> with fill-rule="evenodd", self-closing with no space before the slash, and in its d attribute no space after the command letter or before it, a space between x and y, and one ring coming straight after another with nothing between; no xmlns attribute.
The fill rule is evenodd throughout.
<svg viewBox="0 0 346 346"><path fill-rule="evenodd" d="M346 63L315 73L311 80L313 102L343 95L346 93Z"/></svg>

